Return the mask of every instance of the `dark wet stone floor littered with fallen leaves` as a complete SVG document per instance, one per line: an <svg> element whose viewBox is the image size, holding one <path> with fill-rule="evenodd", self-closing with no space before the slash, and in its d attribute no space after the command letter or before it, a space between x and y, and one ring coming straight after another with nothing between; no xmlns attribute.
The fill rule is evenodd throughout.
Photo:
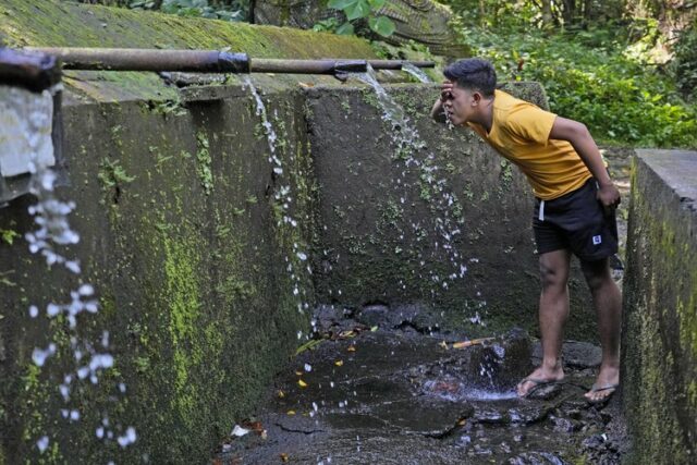
<svg viewBox="0 0 697 465"><path fill-rule="evenodd" d="M265 408L241 421L252 431L227 438L217 463L615 464L627 449L617 399L583 396L598 347L565 344L564 382L522 400L515 384L537 352L525 333L455 348L461 340L414 331L387 307L355 316L320 309L325 340L279 375Z"/></svg>

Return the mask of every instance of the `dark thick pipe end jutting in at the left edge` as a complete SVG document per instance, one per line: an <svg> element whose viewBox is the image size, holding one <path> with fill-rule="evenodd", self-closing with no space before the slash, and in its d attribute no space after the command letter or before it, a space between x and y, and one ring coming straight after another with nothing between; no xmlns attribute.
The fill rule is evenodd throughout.
<svg viewBox="0 0 697 465"><path fill-rule="evenodd" d="M0 48L0 84L40 93L60 81L61 66L56 57Z"/></svg>

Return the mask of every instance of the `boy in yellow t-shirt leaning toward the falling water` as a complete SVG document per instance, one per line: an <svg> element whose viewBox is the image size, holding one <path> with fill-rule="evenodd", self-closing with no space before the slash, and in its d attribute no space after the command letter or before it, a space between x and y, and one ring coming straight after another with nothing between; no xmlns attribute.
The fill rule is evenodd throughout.
<svg viewBox="0 0 697 465"><path fill-rule="evenodd" d="M496 71L481 59L448 66L431 117L469 126L527 176L535 194L533 228L542 291L539 322L542 365L517 384L521 397L564 378L562 329L568 315L568 268L576 255L598 316L602 362L591 403L604 402L620 383L622 296L609 257L617 252L614 209L620 193L586 126L497 90Z"/></svg>

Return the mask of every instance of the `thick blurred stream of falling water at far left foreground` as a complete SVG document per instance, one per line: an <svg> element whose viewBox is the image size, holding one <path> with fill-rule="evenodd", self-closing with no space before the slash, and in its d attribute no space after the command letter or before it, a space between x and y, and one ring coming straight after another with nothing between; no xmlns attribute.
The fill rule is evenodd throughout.
<svg viewBox="0 0 697 465"><path fill-rule="evenodd" d="M63 319L68 327L66 333L74 366L62 375L62 382L59 386L60 395L65 403L65 408L61 408L60 416L73 423L80 420L84 412L81 412L76 403L71 405L71 393L80 388L81 383L97 384L100 374L113 366L114 358L109 353L108 331L102 332L101 341L97 344L81 338L77 333L80 315L97 314L99 304L95 297L94 286L80 279L80 260L64 256L60 252L64 246L77 244L80 234L71 228L68 220L75 209L75 203L63 201L56 196L57 175L50 168L53 161L51 144L53 95L57 91L60 91L60 86L45 90L40 95L15 87L2 87L3 98L0 98L0 110L4 117L10 115L15 125L12 127L13 136L24 138L24 142L15 146L25 147L25 150L28 150L28 171L32 174L29 188L37 197L37 203L28 208L36 224L36 230L25 236L29 244L29 252L40 254L49 268L53 266L64 268L77 281L76 289L70 292L70 302L51 302L46 305L46 317L58 319L58 321ZM26 159L22 154L17 154L16 158ZM32 318L39 318L40 313L37 305L30 305L28 308ZM32 359L36 366L44 367L61 348L63 347L59 347L58 340L51 340L46 347L34 348ZM118 390L120 393L125 393L125 384L118 384ZM41 453L50 446L48 431L44 432L45 435L36 440L36 446ZM106 414L96 428L96 436L103 441L115 440L121 446L126 446L136 440L135 428L111 425Z"/></svg>

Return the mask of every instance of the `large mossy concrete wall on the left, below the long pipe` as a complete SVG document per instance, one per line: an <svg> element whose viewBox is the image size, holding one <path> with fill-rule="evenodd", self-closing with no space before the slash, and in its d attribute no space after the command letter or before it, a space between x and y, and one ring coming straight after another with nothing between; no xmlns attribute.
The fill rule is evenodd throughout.
<svg viewBox="0 0 697 465"><path fill-rule="evenodd" d="M61 196L77 203L71 223L82 234L68 253L81 259L81 280L95 285L101 306L97 317L80 318L77 334L98 347L109 331L117 364L98 387L75 387L62 402L61 374L74 364L65 321L32 319L27 309L38 305L44 315L48 303L70 302L76 284L49 271L21 238L35 228L32 200L2 209L0 230L19 234L0 244L9 463L134 463L143 454L152 463L205 462L252 412L299 344L297 332L307 332L298 305L314 302L297 258L311 243L314 211L299 97L289 90L267 100L283 175L272 173L255 103L239 87L166 114L145 102L64 108L72 186ZM276 196L282 186L294 196L288 208ZM32 351L51 341L59 354L39 369ZM61 408L77 408L81 420L68 423ZM137 444L117 452L113 441L97 440L106 415L135 426ZM39 454L44 435L51 449Z"/></svg>

